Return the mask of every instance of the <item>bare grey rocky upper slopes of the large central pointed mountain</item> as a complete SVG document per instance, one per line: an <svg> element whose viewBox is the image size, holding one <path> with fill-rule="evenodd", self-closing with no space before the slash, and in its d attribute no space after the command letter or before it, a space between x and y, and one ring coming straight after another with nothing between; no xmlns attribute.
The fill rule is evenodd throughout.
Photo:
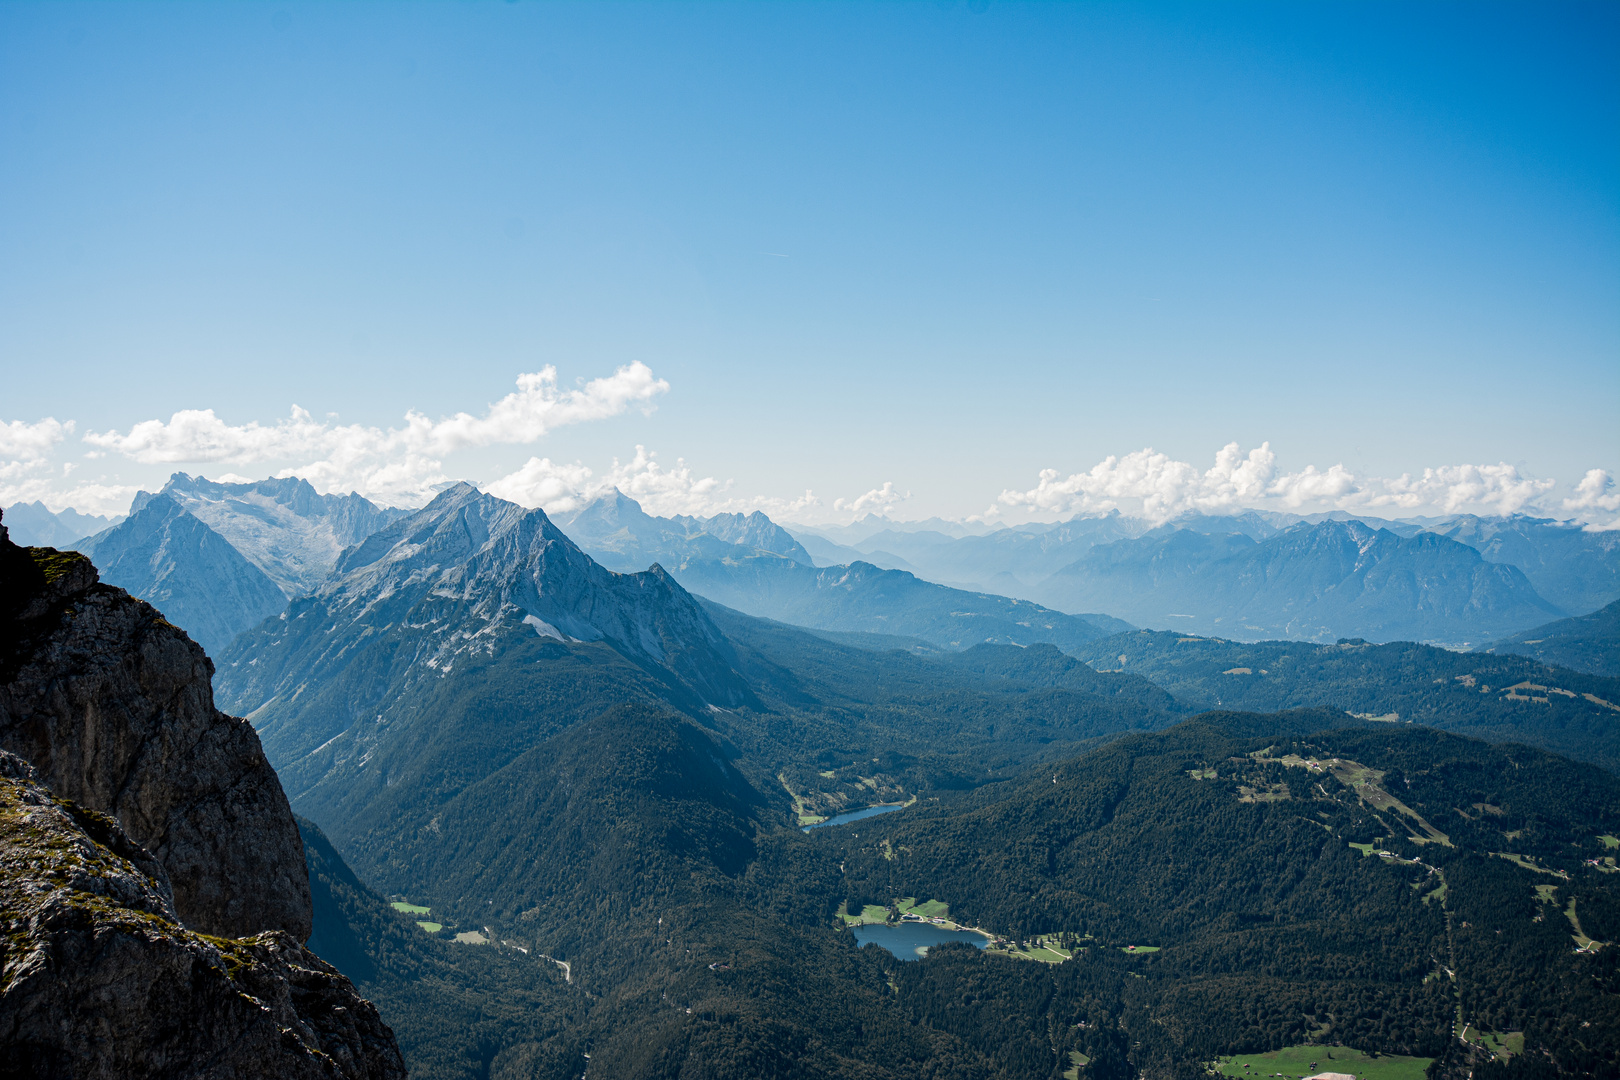
<svg viewBox="0 0 1620 1080"><path fill-rule="evenodd" d="M222 657L222 683L237 708L261 711L363 659L400 690L492 656L509 633L604 643L703 703L748 696L726 638L659 567L606 570L544 512L471 484L347 551L284 622L237 641Z"/></svg>

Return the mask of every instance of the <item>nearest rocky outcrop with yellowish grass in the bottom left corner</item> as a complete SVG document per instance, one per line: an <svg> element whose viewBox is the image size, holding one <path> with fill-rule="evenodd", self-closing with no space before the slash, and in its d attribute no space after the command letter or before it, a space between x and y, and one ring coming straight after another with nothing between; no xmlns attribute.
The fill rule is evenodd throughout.
<svg viewBox="0 0 1620 1080"><path fill-rule="evenodd" d="M0 1074L403 1080L394 1033L284 931L204 938L112 818L0 751Z"/></svg>

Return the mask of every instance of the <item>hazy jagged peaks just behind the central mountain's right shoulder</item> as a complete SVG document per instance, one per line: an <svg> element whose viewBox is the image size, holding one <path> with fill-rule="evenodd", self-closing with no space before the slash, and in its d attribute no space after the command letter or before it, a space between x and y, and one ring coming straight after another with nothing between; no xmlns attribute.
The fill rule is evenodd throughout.
<svg viewBox="0 0 1620 1080"><path fill-rule="evenodd" d="M557 528L609 570L645 570L692 557L726 559L755 551L810 565L810 552L763 513L656 518L620 491L557 515ZM737 551L732 551L737 549Z"/></svg>

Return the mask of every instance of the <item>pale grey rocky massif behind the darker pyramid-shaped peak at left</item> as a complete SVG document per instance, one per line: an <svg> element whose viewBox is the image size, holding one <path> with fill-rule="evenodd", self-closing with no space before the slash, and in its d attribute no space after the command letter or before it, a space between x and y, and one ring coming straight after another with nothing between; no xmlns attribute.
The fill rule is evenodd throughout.
<svg viewBox="0 0 1620 1080"><path fill-rule="evenodd" d="M345 547L408 513L353 492L322 495L295 476L228 484L186 473L170 476L157 495L136 495L131 513L159 497L225 538L287 599L313 593Z"/></svg>

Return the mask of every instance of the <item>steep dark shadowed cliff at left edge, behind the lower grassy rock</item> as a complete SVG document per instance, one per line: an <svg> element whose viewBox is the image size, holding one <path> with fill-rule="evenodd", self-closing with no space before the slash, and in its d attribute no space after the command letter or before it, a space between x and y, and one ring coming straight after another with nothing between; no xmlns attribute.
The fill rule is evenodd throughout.
<svg viewBox="0 0 1620 1080"><path fill-rule="evenodd" d="M75 552L0 526L0 750L118 819L162 865L178 918L241 938L309 936L292 810L246 721L214 708L214 667L157 610Z"/></svg>

